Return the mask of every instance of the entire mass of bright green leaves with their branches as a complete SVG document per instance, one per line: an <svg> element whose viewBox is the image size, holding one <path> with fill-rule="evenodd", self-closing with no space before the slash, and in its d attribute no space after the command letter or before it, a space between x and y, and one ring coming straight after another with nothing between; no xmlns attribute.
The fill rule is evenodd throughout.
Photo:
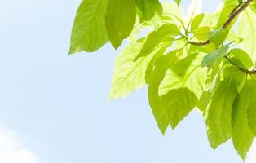
<svg viewBox="0 0 256 163"><path fill-rule="evenodd" d="M212 148L228 139L245 159L256 136L256 1L223 0L200 13L193 0L83 0L73 24L70 54L96 51L124 39L109 98L148 86L162 134L193 109L205 118ZM148 32L149 31L149 32Z"/></svg>

